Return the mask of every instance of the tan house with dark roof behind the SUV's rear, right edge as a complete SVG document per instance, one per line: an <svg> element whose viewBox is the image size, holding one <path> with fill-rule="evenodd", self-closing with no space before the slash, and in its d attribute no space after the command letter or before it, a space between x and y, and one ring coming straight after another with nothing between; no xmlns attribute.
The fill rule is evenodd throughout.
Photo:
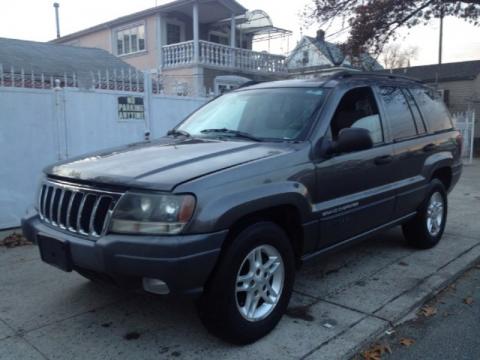
<svg viewBox="0 0 480 360"><path fill-rule="evenodd" d="M385 70L386 71L386 70ZM388 70L436 87L452 113L474 110L480 116L480 60L412 66ZM480 147L480 126L475 127L476 148Z"/></svg>

